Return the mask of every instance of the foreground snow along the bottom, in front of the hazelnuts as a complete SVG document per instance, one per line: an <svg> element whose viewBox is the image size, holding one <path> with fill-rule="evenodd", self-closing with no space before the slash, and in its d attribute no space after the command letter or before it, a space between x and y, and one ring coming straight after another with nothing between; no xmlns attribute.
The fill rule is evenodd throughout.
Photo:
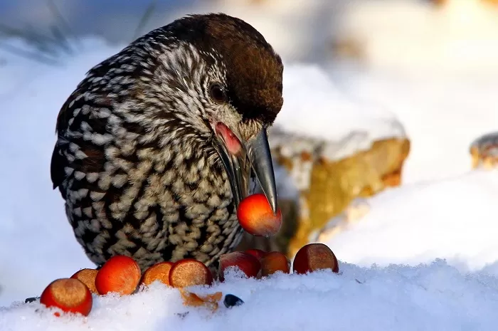
<svg viewBox="0 0 498 331"><path fill-rule="evenodd" d="M159 283L122 298L94 296L86 318L57 318L37 302L18 304L0 308L0 330L494 330L498 322L496 278L464 275L443 261L340 268L339 275L232 277L212 288L191 288L245 302L231 309L221 303L214 313L185 307L178 290Z"/></svg>

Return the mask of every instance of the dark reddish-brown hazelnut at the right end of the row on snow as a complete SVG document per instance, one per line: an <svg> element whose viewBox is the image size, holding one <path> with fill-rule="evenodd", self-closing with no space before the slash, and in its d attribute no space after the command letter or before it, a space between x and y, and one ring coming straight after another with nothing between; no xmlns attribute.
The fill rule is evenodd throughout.
<svg viewBox="0 0 498 331"><path fill-rule="evenodd" d="M339 263L331 249L323 243L309 243L297 251L292 269L295 273L309 273L319 269L339 272Z"/></svg>

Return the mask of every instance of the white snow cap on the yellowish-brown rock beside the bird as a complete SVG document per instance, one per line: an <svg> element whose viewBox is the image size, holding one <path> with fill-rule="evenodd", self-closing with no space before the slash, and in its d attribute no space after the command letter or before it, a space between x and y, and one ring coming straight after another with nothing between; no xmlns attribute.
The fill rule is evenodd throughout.
<svg viewBox="0 0 498 331"><path fill-rule="evenodd" d="M406 136L392 112L351 97L318 65L286 65L283 86L284 105L275 128L301 136L300 140L329 142L324 151L327 159L351 156L376 140Z"/></svg>

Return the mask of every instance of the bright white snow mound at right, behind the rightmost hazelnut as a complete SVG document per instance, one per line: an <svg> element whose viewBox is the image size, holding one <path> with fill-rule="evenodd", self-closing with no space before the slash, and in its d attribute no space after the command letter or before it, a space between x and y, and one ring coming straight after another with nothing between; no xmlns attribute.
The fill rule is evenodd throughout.
<svg viewBox="0 0 498 331"><path fill-rule="evenodd" d="M464 271L492 272L498 261L497 199L498 171L389 189L369 199L368 213L326 243L359 266L445 258Z"/></svg>

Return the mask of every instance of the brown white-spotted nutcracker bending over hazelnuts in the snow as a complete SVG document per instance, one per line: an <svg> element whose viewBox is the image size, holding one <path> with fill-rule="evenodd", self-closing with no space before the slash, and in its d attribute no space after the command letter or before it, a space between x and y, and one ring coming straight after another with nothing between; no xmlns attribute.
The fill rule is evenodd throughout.
<svg viewBox="0 0 498 331"><path fill-rule="evenodd" d="M182 16L88 70L58 113L51 180L97 268L216 266L243 235L240 201L259 187L277 213L282 75L263 35L223 13Z"/></svg>

